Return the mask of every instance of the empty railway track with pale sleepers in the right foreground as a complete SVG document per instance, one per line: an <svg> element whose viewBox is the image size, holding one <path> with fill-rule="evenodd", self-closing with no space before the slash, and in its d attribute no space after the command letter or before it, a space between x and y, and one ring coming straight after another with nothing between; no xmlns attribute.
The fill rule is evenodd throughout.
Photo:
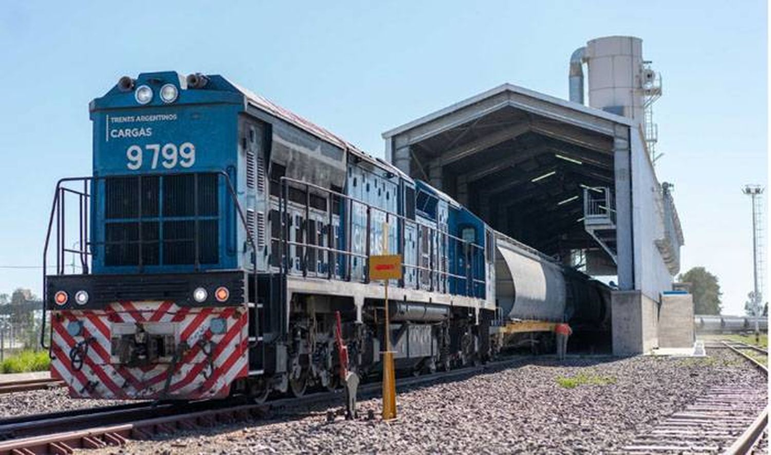
<svg viewBox="0 0 771 455"><path fill-rule="evenodd" d="M722 342L768 376L768 369L742 349ZM762 349L760 349L763 352ZM715 386L682 411L640 434L625 453L752 453L768 425L766 390Z"/></svg>

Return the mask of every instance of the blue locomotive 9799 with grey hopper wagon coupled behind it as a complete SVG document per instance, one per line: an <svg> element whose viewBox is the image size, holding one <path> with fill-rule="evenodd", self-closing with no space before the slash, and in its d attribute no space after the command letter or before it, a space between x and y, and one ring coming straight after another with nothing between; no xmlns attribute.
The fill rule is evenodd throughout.
<svg viewBox="0 0 771 455"><path fill-rule="evenodd" d="M55 235L51 369L72 396L333 388L338 312L348 367L372 372L373 254L403 258L399 369L483 361L516 341L513 322L607 324L607 288L224 77L123 77L89 108L93 176L60 180L44 254ZM68 254L82 273L65 273Z"/></svg>

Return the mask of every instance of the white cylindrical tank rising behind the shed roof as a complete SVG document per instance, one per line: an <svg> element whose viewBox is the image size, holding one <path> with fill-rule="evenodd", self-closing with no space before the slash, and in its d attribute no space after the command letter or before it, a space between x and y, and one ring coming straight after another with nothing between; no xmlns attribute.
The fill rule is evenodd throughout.
<svg viewBox="0 0 771 455"><path fill-rule="evenodd" d="M642 40L606 36L587 43L589 106L643 121Z"/></svg>

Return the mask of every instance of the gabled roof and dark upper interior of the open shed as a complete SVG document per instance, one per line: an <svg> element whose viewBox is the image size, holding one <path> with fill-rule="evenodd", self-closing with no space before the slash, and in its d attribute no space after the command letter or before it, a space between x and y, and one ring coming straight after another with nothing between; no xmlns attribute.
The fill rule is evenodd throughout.
<svg viewBox="0 0 771 455"><path fill-rule="evenodd" d="M580 222L581 194L614 187L614 140L636 124L506 83L382 136L392 163L411 177L498 231L557 254L597 246Z"/></svg>

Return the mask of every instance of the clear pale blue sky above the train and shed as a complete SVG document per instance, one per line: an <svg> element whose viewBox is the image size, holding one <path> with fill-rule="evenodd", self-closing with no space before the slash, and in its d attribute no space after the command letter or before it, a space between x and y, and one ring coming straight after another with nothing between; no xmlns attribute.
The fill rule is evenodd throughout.
<svg viewBox="0 0 771 455"><path fill-rule="evenodd" d="M382 156L382 131L500 83L567 97L574 49L636 35L664 80L658 173L683 271L704 265L742 311L741 187L767 179L763 1L86 3L0 9L0 266L40 265L56 180L90 173L89 100L124 74L221 73ZM0 292L39 293L40 275L0 268Z"/></svg>

